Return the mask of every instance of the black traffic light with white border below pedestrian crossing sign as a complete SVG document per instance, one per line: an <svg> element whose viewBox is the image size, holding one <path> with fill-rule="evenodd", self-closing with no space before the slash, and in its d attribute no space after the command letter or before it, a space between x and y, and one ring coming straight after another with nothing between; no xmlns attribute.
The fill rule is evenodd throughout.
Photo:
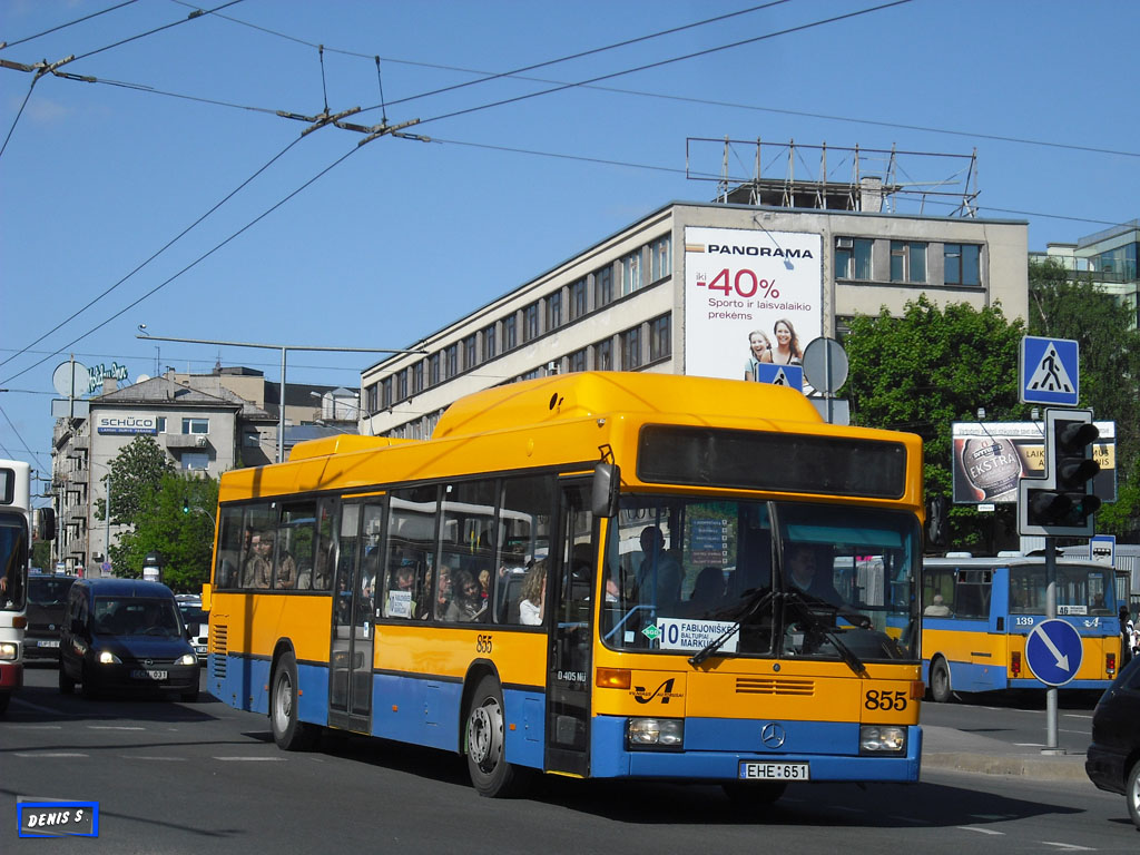
<svg viewBox="0 0 1140 855"><path fill-rule="evenodd" d="M1093 514L1100 499L1092 479L1100 464L1092 443L1100 431L1090 410L1045 412L1045 477L1021 479L1019 522L1023 535L1089 537L1096 534Z"/></svg>

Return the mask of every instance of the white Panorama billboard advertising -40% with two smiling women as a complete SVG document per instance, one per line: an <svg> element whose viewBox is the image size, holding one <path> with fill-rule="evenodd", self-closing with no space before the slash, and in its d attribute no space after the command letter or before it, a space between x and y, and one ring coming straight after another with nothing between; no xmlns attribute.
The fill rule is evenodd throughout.
<svg viewBox="0 0 1140 855"><path fill-rule="evenodd" d="M685 229L685 374L756 380L823 334L820 235Z"/></svg>

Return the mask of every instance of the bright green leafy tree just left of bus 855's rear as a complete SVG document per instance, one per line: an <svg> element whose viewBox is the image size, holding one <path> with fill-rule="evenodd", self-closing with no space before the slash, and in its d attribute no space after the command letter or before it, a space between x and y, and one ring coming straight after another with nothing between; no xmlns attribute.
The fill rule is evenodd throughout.
<svg viewBox="0 0 1140 855"><path fill-rule="evenodd" d="M176 592L197 593L210 578L218 482L177 472L165 473L158 488L112 549L117 576L138 578L147 553L163 557L163 581ZM117 554L116 554L117 553Z"/></svg>

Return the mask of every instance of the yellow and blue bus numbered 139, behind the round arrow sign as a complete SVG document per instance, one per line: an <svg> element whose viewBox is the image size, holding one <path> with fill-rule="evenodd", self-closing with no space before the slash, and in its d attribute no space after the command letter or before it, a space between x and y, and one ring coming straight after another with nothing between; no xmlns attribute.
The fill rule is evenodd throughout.
<svg viewBox="0 0 1140 855"><path fill-rule="evenodd" d="M1121 667L1115 571L1091 561L1057 561L1057 618L1081 636L1081 666L1061 690L1104 691ZM947 556L922 570L922 674L930 697L1043 689L1025 646L1045 620L1043 557Z"/></svg>

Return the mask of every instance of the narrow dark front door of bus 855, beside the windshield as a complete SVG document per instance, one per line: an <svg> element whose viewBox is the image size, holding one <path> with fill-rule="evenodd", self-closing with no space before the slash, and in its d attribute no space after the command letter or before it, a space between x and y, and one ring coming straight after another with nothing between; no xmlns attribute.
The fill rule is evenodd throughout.
<svg viewBox="0 0 1140 855"><path fill-rule="evenodd" d="M559 513L561 548L546 589L552 612L546 676L546 757L548 772L589 775L591 606L595 577L594 521L589 482L562 484ZM559 543L559 542L556 542Z"/></svg>

